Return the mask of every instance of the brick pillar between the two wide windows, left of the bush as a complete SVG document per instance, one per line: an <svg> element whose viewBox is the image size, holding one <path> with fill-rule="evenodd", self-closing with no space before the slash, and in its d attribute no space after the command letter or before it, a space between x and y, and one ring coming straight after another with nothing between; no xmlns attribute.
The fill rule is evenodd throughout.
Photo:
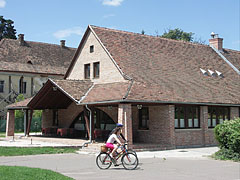
<svg viewBox="0 0 240 180"><path fill-rule="evenodd" d="M200 127L202 129L202 145L205 146L207 142L208 131L208 107L200 106Z"/></svg>

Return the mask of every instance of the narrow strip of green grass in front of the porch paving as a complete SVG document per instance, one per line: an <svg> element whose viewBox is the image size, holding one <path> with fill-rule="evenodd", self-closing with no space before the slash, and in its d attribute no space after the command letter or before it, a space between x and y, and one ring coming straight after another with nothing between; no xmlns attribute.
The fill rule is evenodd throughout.
<svg viewBox="0 0 240 180"><path fill-rule="evenodd" d="M62 147L0 147L0 156L75 153L77 148Z"/></svg>

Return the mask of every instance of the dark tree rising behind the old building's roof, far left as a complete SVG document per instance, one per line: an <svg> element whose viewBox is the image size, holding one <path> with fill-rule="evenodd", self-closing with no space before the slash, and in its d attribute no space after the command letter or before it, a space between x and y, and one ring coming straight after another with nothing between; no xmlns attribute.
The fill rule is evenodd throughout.
<svg viewBox="0 0 240 180"><path fill-rule="evenodd" d="M3 16L0 16L0 40L3 38L17 39L13 23L12 20L4 19Z"/></svg>

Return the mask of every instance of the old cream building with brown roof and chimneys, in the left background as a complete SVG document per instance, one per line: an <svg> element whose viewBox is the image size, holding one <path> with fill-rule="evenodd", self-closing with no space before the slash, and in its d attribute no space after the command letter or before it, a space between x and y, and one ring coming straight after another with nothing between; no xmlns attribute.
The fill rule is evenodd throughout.
<svg viewBox="0 0 240 180"><path fill-rule="evenodd" d="M74 48L18 39L0 41L0 116L5 106L15 102L19 94L35 95L48 78L63 79L75 53Z"/></svg>

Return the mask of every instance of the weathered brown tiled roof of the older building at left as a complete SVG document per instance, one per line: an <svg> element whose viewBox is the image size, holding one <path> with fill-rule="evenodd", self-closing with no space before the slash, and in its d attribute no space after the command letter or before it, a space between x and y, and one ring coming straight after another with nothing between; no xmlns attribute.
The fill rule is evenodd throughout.
<svg viewBox="0 0 240 180"><path fill-rule="evenodd" d="M2 39L0 42L0 71L64 75L75 48L60 45Z"/></svg>

